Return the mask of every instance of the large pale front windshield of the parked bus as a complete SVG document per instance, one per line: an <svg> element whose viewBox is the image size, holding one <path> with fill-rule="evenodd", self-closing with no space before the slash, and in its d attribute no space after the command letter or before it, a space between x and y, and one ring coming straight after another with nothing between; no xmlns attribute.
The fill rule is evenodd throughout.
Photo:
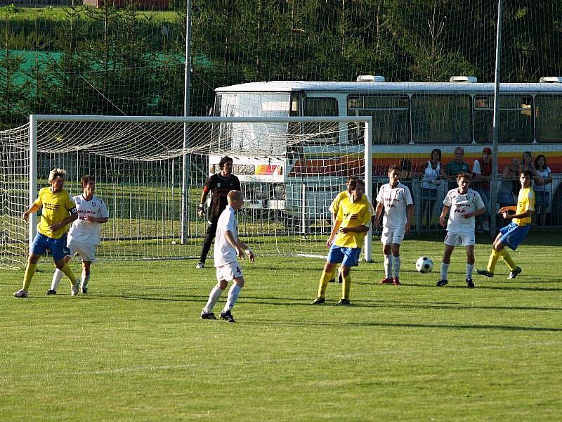
<svg viewBox="0 0 562 422"><path fill-rule="evenodd" d="M217 94L215 115L221 117L289 117L289 93ZM287 151L287 123L221 123L218 144L230 151L283 155Z"/></svg>

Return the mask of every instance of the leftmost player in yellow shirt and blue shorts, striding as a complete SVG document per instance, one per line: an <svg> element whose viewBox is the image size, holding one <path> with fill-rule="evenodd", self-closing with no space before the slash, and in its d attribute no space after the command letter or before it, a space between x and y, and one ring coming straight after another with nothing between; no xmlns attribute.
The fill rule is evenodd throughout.
<svg viewBox="0 0 562 422"><path fill-rule="evenodd" d="M23 286L13 295L16 298L27 298L27 290L30 288L33 274L37 269L37 262L46 250L51 250L55 266L63 271L70 280L71 292L78 294L80 279L75 279L72 269L65 262L65 256L69 253L66 246L67 224L78 218L76 205L70 199L70 195L64 190L66 172L62 169L51 170L48 175L48 188L42 188L39 196L23 213L23 219L27 221L32 212L41 210L41 221L37 224L37 235L30 248L27 258L27 267L23 277Z"/></svg>

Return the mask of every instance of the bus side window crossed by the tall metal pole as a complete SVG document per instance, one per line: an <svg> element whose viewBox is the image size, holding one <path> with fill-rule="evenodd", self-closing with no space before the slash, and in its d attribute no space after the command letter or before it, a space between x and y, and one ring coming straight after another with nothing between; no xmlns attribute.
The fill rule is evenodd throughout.
<svg viewBox="0 0 562 422"><path fill-rule="evenodd" d="M532 142L532 97L499 96L499 143ZM474 138L476 143L492 143L494 97L474 97Z"/></svg>

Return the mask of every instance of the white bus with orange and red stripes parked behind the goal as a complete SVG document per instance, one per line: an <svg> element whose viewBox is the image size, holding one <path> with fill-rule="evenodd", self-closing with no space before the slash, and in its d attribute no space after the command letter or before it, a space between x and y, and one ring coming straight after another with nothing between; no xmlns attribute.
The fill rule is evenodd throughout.
<svg viewBox="0 0 562 422"><path fill-rule="evenodd" d="M540 82L500 84L498 170L523 152L544 154L554 175L551 209L559 217L558 185L562 175L562 77ZM250 82L215 90L212 115L221 117L372 117L374 185L386 181L389 165L407 160L419 183L433 148L446 165L457 146L472 169L484 146L492 145L494 84L474 77L450 82L385 82L363 75L355 82ZM260 126L261 125L261 126ZM330 130L330 125L332 129ZM364 150L364 127L358 123L220 124L214 136L235 153L234 172L247 184L247 202L256 209L283 210L288 215L327 215L327 204L341 191L348 174L362 174L357 165ZM263 153L269 151L266 158ZM345 160L341 156L345 155ZM209 157L209 172L218 170L219 155ZM322 169L322 183L313 183ZM499 186L499 184L498 184ZM307 193L307 189L312 192ZM373 196L375 195L375 190ZM415 195L414 195L415 197ZM495 198L495 195L491 196ZM305 205L304 202L308 204Z"/></svg>

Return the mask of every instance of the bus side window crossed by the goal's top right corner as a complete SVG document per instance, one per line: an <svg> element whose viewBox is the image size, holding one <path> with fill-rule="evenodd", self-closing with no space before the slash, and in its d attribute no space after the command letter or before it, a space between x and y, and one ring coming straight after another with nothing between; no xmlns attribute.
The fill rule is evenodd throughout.
<svg viewBox="0 0 562 422"><path fill-rule="evenodd" d="M372 116L373 144L410 143L410 106L407 95L351 95L347 100L349 116ZM365 124L348 124L348 141L362 144Z"/></svg>

